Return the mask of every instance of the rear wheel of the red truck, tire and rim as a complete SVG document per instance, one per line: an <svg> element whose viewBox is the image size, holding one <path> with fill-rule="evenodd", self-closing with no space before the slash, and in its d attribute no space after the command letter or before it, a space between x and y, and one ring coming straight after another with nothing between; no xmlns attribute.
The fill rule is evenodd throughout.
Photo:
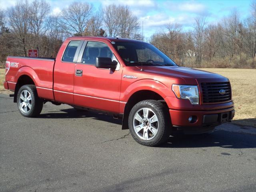
<svg viewBox="0 0 256 192"><path fill-rule="evenodd" d="M43 100L37 95L36 86L24 85L17 94L17 104L20 113L25 117L35 117L43 108Z"/></svg>

